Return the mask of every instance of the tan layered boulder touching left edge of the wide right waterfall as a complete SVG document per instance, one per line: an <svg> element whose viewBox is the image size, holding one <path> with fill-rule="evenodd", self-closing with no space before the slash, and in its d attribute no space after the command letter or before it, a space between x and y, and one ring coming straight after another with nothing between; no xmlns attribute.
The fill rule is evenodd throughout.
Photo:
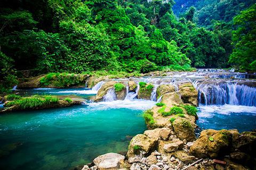
<svg viewBox="0 0 256 170"><path fill-rule="evenodd" d="M198 91L192 83L180 84L179 93L181 94L181 99L183 100L183 103L189 103L194 106L198 106Z"/></svg>

